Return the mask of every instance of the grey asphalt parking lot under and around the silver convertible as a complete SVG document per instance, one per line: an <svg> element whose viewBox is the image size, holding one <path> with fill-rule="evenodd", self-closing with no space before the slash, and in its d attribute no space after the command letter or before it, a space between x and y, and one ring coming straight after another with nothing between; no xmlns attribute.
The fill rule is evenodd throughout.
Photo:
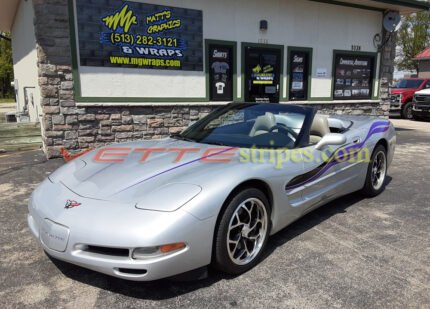
<svg viewBox="0 0 430 309"><path fill-rule="evenodd" d="M382 195L353 194L307 215L242 276L192 282L128 282L54 264L27 228L27 201L63 161L0 156L0 307L429 308L430 122L393 122L398 148Z"/></svg>

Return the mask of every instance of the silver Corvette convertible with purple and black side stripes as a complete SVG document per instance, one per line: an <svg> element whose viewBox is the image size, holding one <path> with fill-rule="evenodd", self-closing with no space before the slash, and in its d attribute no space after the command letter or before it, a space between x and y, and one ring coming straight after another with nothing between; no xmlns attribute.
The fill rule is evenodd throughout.
<svg viewBox="0 0 430 309"><path fill-rule="evenodd" d="M306 213L381 193L395 143L384 119L230 104L169 138L69 162L31 195L28 224L48 255L119 278L241 274Z"/></svg>

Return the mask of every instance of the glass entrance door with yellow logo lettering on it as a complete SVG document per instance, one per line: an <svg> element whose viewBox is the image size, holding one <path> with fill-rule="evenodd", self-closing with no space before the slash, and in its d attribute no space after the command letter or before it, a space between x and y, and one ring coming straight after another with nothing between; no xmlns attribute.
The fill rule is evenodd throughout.
<svg viewBox="0 0 430 309"><path fill-rule="evenodd" d="M245 100L257 103L279 103L281 49L246 47Z"/></svg>

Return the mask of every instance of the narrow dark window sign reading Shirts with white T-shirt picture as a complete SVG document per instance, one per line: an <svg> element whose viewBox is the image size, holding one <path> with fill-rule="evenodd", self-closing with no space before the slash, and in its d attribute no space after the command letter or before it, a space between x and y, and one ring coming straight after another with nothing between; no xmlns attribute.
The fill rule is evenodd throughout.
<svg viewBox="0 0 430 309"><path fill-rule="evenodd" d="M210 101L233 101L234 45L209 43L207 46Z"/></svg>

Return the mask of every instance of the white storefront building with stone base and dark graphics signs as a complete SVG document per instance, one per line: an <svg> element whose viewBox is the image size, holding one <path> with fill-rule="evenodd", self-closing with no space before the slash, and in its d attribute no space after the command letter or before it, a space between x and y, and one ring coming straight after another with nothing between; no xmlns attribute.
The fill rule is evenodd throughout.
<svg viewBox="0 0 430 309"><path fill-rule="evenodd" d="M52 157L180 132L231 101L384 115L395 57L384 16L429 4L356 3L8 0L0 30Z"/></svg>

